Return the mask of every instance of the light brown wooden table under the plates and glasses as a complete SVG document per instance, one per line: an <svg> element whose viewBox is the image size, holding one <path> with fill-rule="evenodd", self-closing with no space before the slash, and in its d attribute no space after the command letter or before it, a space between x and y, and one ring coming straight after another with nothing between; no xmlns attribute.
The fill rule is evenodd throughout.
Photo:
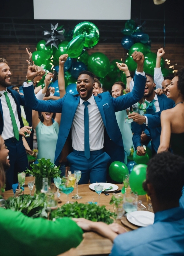
<svg viewBox="0 0 184 256"><path fill-rule="evenodd" d="M24 194L30 194L29 188L27 187L27 182L32 180L34 180L34 177L26 177ZM123 187L122 184L116 184L116 185L119 187L119 190L122 189ZM33 188L32 194L34 190L35 188ZM84 203L84 204L89 201L98 202L98 194L89 188L89 184L78 185L78 194L82 196L82 199L79 199L79 200L72 199L72 196L75 195L76 192L77 192L77 189L75 186L73 192L69 194L70 202L78 201L78 203ZM111 200L112 192L108 192L108 193L110 194L109 196L106 196L104 193L100 195L100 205L106 205L107 210L114 211L113 205L109 204ZM4 193L5 199L7 199L10 196L13 196L12 189L5 191ZM58 207L66 203L67 196L61 193L61 196L59 198L61 200L61 203L58 204ZM139 199L142 200L144 205L146 205L145 196L139 196ZM127 231L132 230L127 226L123 225L123 227L125 227ZM84 239L81 242L81 244L76 249L74 249L74 251L72 250L71 254L66 254L66 255L81 255L81 256L82 255L108 255L111 252L112 242L109 239L104 238L95 232L85 232L83 237Z"/></svg>

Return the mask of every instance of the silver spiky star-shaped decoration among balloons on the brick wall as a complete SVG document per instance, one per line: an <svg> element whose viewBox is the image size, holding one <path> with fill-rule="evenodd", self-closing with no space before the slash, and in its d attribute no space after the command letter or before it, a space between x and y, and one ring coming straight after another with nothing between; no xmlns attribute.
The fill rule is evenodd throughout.
<svg viewBox="0 0 184 256"><path fill-rule="evenodd" d="M56 49L58 49L58 43L65 40L65 37L63 35L64 32L65 29L63 29L63 26L58 27L58 23L53 26L51 23L51 32L47 30L44 31L44 37L47 39L45 45L51 45L51 48L52 46L54 46L56 47Z"/></svg>

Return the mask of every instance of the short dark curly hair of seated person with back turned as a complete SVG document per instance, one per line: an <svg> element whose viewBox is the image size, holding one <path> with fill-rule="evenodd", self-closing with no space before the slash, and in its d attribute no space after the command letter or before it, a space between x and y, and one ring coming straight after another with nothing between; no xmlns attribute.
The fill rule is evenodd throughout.
<svg viewBox="0 0 184 256"><path fill-rule="evenodd" d="M183 158L162 152L148 162L146 183L151 183L159 202L179 200L184 184Z"/></svg>

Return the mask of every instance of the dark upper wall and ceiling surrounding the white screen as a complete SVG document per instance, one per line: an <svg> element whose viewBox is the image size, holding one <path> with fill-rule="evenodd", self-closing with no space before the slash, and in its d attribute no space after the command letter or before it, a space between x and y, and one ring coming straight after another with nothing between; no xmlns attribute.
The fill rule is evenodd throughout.
<svg viewBox="0 0 184 256"><path fill-rule="evenodd" d="M57 8L57 7L56 7ZM152 42L183 43L183 0L166 0L165 4L154 5L153 0L132 0L131 19L137 25L145 21L144 32ZM41 11L41 10L40 10ZM33 0L7 0L0 8L1 43L36 43L42 39L42 31L50 30L50 23L64 25L66 31L72 30L83 20L34 20ZM121 41L126 20L89 20L100 30L100 42L117 43ZM43 29L44 28L44 29Z"/></svg>

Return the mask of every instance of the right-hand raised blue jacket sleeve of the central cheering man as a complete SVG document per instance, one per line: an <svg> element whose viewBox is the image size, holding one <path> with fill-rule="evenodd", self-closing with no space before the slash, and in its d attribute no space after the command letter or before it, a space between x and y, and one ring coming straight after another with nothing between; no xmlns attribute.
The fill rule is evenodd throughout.
<svg viewBox="0 0 184 256"><path fill-rule="evenodd" d="M135 75L135 83L132 92L117 98L111 98L115 112L127 109L142 99L146 83L146 77Z"/></svg>

